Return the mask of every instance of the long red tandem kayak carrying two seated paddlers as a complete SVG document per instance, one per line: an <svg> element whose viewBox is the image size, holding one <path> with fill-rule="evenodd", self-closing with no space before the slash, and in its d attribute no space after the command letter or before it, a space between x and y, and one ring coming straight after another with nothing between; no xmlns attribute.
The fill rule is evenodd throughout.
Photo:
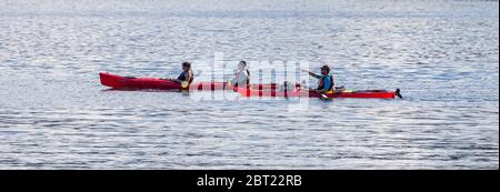
<svg viewBox="0 0 500 192"><path fill-rule="evenodd" d="M107 72L100 72L101 84L110 87L112 89L156 89L156 90L180 90L181 84L176 81L170 81L160 78L136 78L136 77L121 77L118 74L111 74ZM253 89L273 90L276 84L252 84ZM189 85L190 90L224 90L224 82L193 82Z"/></svg>

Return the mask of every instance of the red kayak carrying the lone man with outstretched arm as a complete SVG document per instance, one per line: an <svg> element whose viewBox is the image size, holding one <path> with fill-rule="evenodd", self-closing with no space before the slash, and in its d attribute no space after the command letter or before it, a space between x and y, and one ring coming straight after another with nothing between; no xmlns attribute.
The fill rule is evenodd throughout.
<svg viewBox="0 0 500 192"><path fill-rule="evenodd" d="M342 90L336 91L336 93L320 94L316 91L294 89L292 91L278 91L278 90L254 90L238 88L238 93L243 97L270 97L270 98L362 98L362 99L394 99L402 98L400 90L387 91L387 90ZM323 97L324 95L324 97Z"/></svg>

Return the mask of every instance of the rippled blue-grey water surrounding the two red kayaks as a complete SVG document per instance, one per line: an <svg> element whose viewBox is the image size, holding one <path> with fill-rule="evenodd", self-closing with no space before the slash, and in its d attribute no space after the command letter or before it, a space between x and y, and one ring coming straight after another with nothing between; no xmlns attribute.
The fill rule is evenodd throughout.
<svg viewBox="0 0 500 192"><path fill-rule="evenodd" d="M499 169L498 1L0 0L0 169ZM402 100L197 101L98 73L307 60ZM270 74L263 74L270 79ZM209 81L200 75L198 80Z"/></svg>

